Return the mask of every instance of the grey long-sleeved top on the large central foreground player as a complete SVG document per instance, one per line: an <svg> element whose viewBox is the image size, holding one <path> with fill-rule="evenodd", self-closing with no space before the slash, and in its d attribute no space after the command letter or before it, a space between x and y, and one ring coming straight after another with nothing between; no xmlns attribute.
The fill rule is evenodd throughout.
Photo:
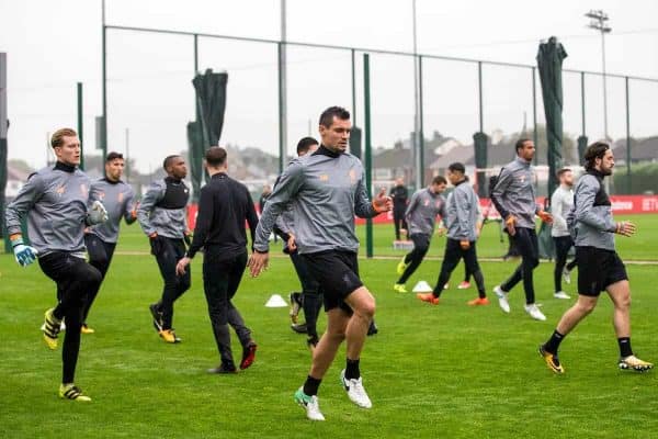
<svg viewBox="0 0 658 439"><path fill-rule="evenodd" d="M336 154L324 146L293 161L274 187L256 229L253 248L268 251L274 222L294 201L295 238L299 254L325 250L356 252L354 214L362 218L377 212L367 198L361 160L349 153Z"/></svg>

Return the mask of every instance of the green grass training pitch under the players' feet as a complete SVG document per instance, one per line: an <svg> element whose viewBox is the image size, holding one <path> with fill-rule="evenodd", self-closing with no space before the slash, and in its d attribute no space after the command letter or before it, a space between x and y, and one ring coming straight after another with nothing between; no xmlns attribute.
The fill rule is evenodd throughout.
<svg viewBox="0 0 658 439"><path fill-rule="evenodd" d="M655 217L633 219L640 232L617 239L620 254L626 260L656 259ZM479 254L500 256L506 247L495 227L487 227ZM392 228L376 227L376 255L404 254L389 249ZM288 328L287 308L263 306L271 294L298 288L290 261L273 258L262 278L246 277L235 300L259 344L256 363L237 375L207 375L205 369L217 364L218 354L203 297L202 257L193 263L192 289L175 307L174 324L184 341L164 345L148 313L161 288L156 263L138 229L124 230L90 317L97 334L83 336L77 382L94 399L87 405L56 395L60 351L49 351L38 331L44 309L55 301L53 283L38 267L21 269L13 257L0 256L1 438L634 438L658 431L656 371L616 369L612 306L605 296L563 344L567 373L554 375L543 364L536 347L571 303L552 299L551 263L536 270L537 299L548 317L541 323L522 311L521 285L511 293L510 315L496 304L466 306L473 290L451 289L440 306L429 306L411 294L393 293L397 259L362 259L362 278L377 297L381 328L362 356L374 408L353 406L339 386L341 350L320 387L328 420L314 424L292 398L309 365L304 337ZM436 238L431 255L442 250ZM484 262L488 289L513 267ZM433 284L439 268L440 261L426 261L408 285L420 279ZM654 266L627 269L633 345L642 358L656 361L658 297L653 285L658 272ZM462 274L458 267L451 284ZM574 284L565 286L574 293ZM238 354L237 340L235 347Z"/></svg>

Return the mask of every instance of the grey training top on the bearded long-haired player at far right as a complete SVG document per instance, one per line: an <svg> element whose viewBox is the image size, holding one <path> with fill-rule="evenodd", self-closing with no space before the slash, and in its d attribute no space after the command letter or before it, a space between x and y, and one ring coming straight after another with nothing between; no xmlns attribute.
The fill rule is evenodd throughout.
<svg viewBox="0 0 658 439"><path fill-rule="evenodd" d="M578 247L614 250L616 224L612 218L612 203L602 183L603 175L595 170L583 175L576 183L567 224Z"/></svg>

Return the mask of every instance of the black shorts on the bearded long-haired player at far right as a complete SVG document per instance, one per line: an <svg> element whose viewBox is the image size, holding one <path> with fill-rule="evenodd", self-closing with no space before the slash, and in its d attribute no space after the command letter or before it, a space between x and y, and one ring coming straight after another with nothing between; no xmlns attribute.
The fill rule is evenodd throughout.
<svg viewBox="0 0 658 439"><path fill-rule="evenodd" d="M626 267L614 250L576 247L578 294L595 297L608 285L628 280Z"/></svg>

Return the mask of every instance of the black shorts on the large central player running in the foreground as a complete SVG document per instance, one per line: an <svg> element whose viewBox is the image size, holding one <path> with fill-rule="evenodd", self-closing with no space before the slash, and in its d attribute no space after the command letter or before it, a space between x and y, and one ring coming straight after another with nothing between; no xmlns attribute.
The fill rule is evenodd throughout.
<svg viewBox="0 0 658 439"><path fill-rule="evenodd" d="M359 260L353 251L327 250L302 255L310 275L320 284L325 311L340 307L352 315L345 297L363 286L359 279Z"/></svg>

